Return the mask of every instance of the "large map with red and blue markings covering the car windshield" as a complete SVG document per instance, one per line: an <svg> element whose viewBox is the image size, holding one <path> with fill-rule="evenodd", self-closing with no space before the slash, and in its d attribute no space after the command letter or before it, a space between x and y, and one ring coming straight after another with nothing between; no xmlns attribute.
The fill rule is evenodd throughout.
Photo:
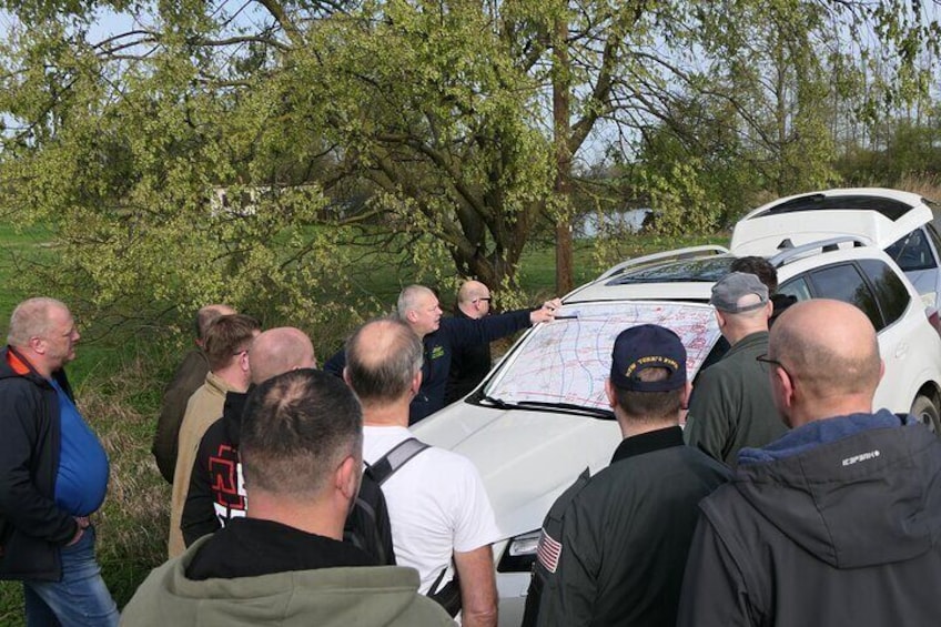
<svg viewBox="0 0 941 627"><path fill-rule="evenodd" d="M610 409L605 378L615 337L638 324L659 324L680 336L689 380L719 338L712 307L694 303L614 301L565 305L555 322L534 328L484 390L492 403Z"/></svg>

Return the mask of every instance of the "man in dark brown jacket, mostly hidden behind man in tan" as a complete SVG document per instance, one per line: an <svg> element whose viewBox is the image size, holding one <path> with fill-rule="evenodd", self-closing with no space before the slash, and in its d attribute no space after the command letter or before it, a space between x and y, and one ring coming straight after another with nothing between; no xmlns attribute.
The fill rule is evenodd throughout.
<svg viewBox="0 0 941 627"><path fill-rule="evenodd" d="M186 413L186 403L193 392L205 383L205 375L209 373L205 332L219 317L234 313L234 309L223 304L206 305L196 312L196 317L193 321L195 347L183 357L183 363L176 368L173 380L163 393L163 407L156 418L156 431L153 434L151 453L156 461L160 474L169 484L173 483L180 423L183 422L183 414Z"/></svg>

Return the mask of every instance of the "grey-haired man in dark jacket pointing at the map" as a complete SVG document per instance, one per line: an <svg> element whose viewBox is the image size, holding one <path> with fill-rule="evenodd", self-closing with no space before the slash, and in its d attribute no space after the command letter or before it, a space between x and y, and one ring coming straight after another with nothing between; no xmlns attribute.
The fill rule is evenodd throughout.
<svg viewBox="0 0 941 627"><path fill-rule="evenodd" d="M398 295L397 315L422 340L425 353L422 388L408 407L408 424L413 425L444 407L447 373L456 346L489 343L534 324L550 322L559 307L561 302L555 299L538 310L519 310L482 320L443 318L434 292L424 285L405 287ZM342 377L345 365L344 352L340 351L326 361L324 371Z"/></svg>

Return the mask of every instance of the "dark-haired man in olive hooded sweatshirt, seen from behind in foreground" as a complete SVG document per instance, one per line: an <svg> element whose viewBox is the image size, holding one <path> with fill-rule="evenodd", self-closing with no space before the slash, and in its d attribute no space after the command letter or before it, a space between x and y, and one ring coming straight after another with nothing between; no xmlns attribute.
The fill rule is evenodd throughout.
<svg viewBox="0 0 941 627"><path fill-rule="evenodd" d="M342 381L295 370L259 385L239 452L247 516L154 569L122 624L453 625L416 570L341 542L363 468L362 411Z"/></svg>

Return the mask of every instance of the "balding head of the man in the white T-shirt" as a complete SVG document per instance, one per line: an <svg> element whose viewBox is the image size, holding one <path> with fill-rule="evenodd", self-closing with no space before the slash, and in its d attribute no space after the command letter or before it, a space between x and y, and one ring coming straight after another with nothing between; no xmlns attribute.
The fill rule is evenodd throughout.
<svg viewBox="0 0 941 627"><path fill-rule="evenodd" d="M346 375L364 404L402 398L422 360L422 341L401 320L367 322L346 341Z"/></svg>

